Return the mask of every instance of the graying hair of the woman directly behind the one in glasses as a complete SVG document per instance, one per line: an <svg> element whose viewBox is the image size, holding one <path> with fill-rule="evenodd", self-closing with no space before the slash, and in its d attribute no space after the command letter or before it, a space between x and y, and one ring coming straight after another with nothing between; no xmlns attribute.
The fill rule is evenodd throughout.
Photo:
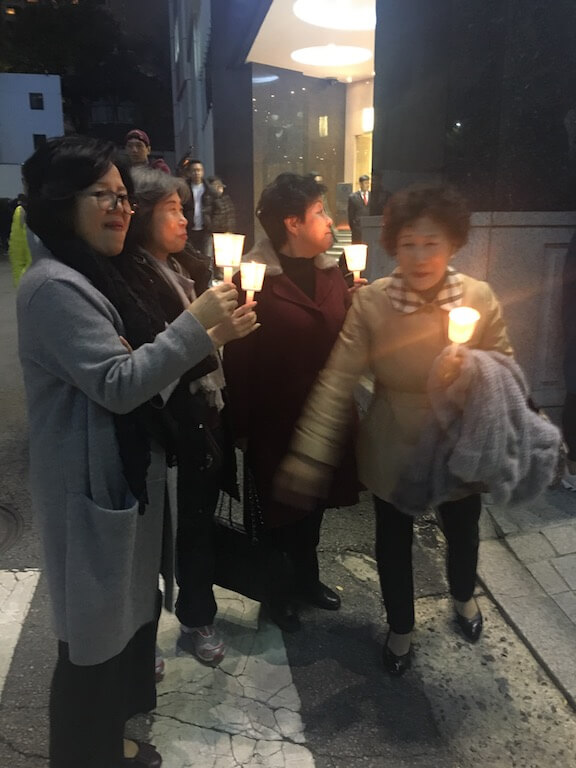
<svg viewBox="0 0 576 768"><path fill-rule="evenodd" d="M170 176L153 168L132 168L130 171L134 185L136 210L130 221L124 249L126 251L143 246L151 240L152 212L158 203L174 192L182 203L190 199L190 189L186 182L177 176Z"/></svg>

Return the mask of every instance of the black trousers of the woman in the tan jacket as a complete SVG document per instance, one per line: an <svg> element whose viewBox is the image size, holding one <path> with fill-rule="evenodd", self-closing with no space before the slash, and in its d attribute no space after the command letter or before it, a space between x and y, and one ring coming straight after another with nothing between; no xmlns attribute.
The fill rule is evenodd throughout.
<svg viewBox="0 0 576 768"><path fill-rule="evenodd" d="M404 634L414 627L414 519L377 496L374 496L374 509L376 563L388 624L393 632ZM438 507L448 545L446 570L450 594L461 602L474 594L481 509L479 494L445 502Z"/></svg>

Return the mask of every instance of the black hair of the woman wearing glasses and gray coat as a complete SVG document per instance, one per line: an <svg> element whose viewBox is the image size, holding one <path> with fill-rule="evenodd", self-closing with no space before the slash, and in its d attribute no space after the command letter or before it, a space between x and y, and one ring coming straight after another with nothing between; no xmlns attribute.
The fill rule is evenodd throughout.
<svg viewBox="0 0 576 768"><path fill-rule="evenodd" d="M22 166L28 193L26 223L41 240L75 236L77 195L115 165L132 193L128 166L114 144L88 136L49 139Z"/></svg>

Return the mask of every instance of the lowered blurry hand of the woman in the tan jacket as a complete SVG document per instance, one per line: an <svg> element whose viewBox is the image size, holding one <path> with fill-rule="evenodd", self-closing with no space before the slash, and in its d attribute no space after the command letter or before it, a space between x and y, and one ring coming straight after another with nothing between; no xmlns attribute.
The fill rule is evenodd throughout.
<svg viewBox="0 0 576 768"><path fill-rule="evenodd" d="M331 479L328 464L289 453L274 478L274 495L288 506L314 510L328 496Z"/></svg>

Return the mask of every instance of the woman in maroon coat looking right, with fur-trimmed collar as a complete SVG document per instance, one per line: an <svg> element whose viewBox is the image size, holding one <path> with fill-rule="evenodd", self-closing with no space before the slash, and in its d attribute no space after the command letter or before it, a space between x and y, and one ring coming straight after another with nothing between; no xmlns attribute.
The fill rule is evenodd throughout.
<svg viewBox="0 0 576 768"><path fill-rule="evenodd" d="M285 631L300 628L295 597L328 610L340 607L338 595L319 579L316 547L324 509L357 501L352 441L321 508L288 506L275 498L273 488L294 426L350 305L337 262L324 253L333 239L324 192L312 178L283 173L262 193L257 216L269 239L244 257L267 265L257 295L262 327L229 344L224 355L236 434L262 506L261 538L294 567L295 583L275 583L269 604L271 618Z"/></svg>

